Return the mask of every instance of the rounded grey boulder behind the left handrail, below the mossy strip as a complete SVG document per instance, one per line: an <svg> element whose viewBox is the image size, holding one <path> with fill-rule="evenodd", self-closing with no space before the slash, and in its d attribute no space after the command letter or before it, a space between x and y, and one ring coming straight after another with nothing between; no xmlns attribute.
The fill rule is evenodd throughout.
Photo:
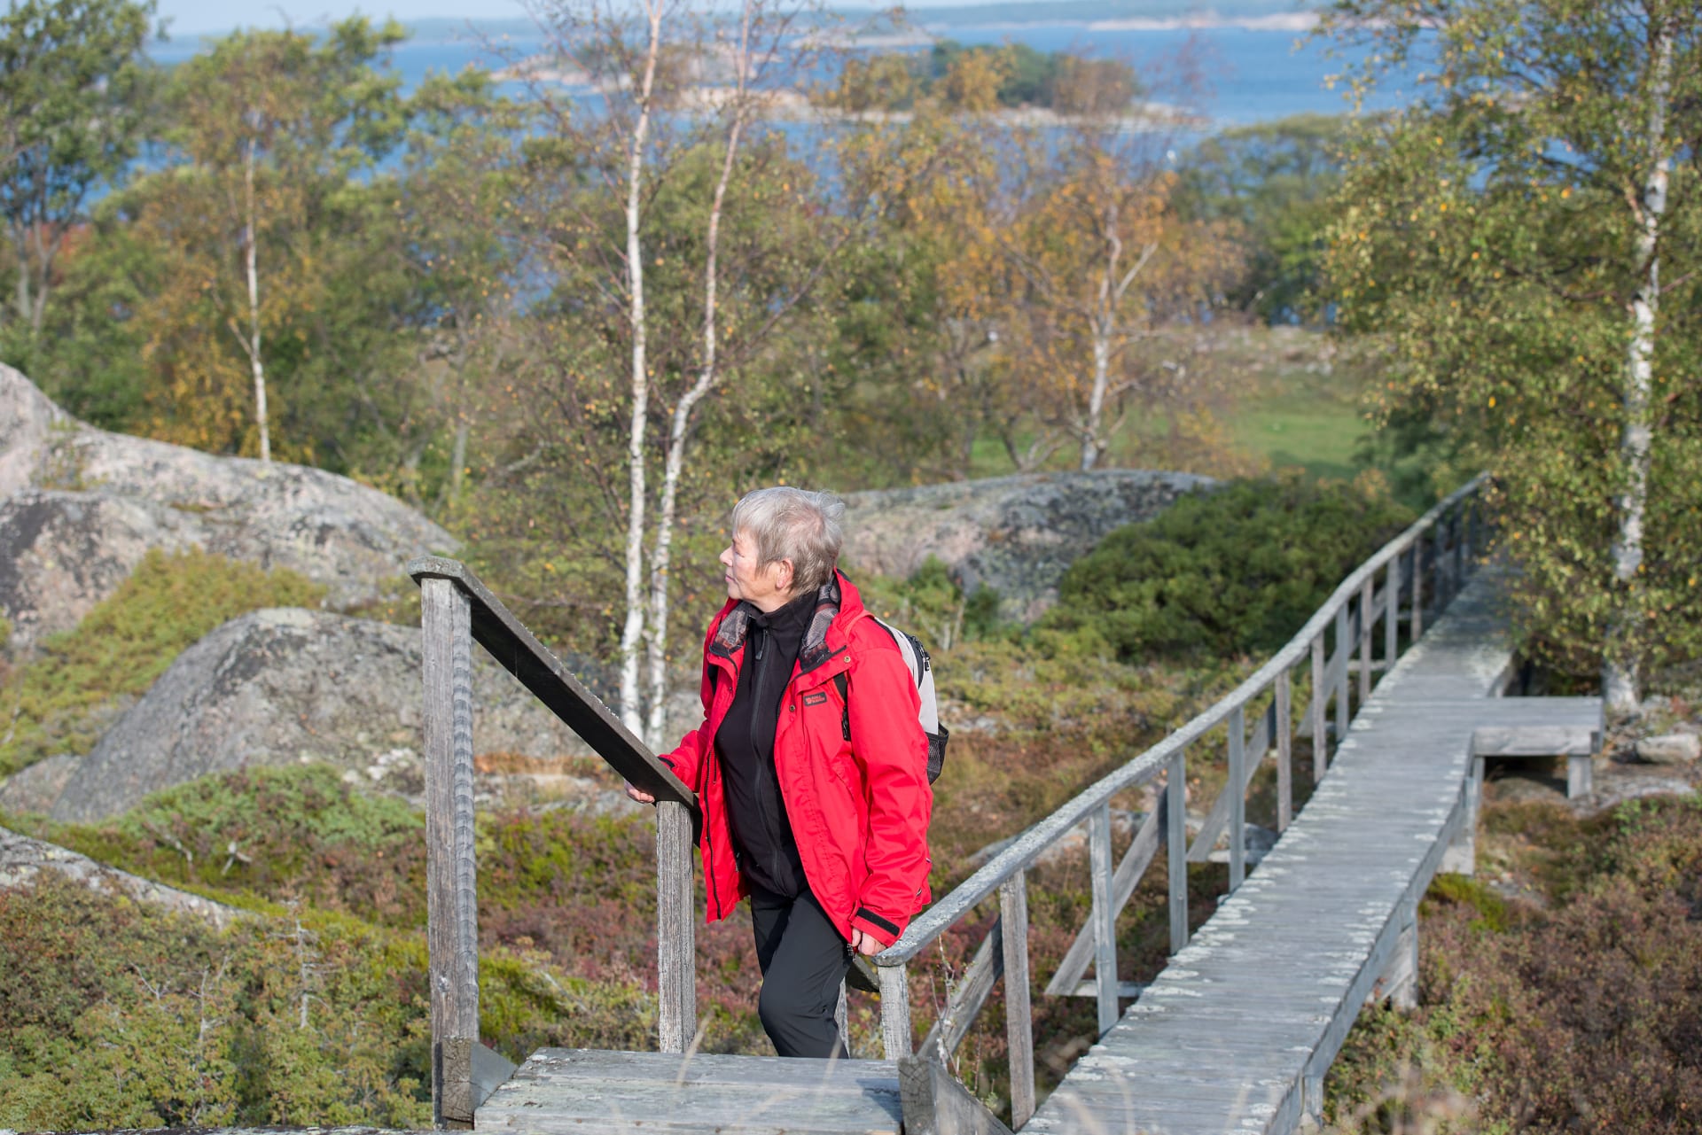
<svg viewBox="0 0 1702 1135"><path fill-rule="evenodd" d="M591 754L483 650L473 657L480 764ZM601 672L580 660L568 665L603 687ZM99 820L209 773L296 761L330 762L363 786L417 796L424 786L419 744L419 630L267 607L231 619L179 655L94 752L77 761L49 813ZM604 801L592 803L601 808Z"/></svg>

